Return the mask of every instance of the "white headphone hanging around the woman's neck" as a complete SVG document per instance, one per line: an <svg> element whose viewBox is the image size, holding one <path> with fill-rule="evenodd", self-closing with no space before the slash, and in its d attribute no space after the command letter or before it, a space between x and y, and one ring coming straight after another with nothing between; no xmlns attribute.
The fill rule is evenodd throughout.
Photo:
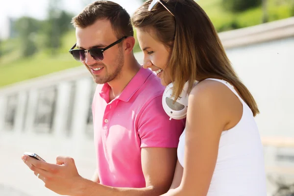
<svg viewBox="0 0 294 196"><path fill-rule="evenodd" d="M196 85L198 81L195 81L194 85ZM189 81L185 83L184 88L180 94L180 97L177 98L175 103L173 103L174 96L172 96L172 87L173 83L170 83L162 96L162 106L164 111L170 117L170 120L180 120L186 118L187 109L188 109L188 86Z"/></svg>

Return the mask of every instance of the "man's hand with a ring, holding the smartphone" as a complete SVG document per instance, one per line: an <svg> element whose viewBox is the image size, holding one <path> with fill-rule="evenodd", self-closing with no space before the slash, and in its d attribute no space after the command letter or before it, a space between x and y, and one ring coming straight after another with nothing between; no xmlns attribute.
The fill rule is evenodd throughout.
<svg viewBox="0 0 294 196"><path fill-rule="evenodd" d="M59 195L78 195L85 180L76 169L71 157L58 156L56 164L39 161L27 155L22 156L25 164L44 181L45 187Z"/></svg>

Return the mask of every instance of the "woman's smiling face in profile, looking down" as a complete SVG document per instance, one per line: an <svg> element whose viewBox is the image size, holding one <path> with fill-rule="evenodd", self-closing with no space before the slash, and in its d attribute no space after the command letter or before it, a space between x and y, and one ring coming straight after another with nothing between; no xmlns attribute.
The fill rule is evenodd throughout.
<svg viewBox="0 0 294 196"><path fill-rule="evenodd" d="M170 49L154 39L155 34L152 31L146 32L137 28L137 37L140 48L144 53L143 67L150 68L160 79L164 86L172 82L167 72L167 65L170 60Z"/></svg>

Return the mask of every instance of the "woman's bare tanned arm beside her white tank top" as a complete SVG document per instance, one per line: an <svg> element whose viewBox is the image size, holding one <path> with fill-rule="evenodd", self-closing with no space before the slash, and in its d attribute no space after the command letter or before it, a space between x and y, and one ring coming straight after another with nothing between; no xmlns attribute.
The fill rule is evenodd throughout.
<svg viewBox="0 0 294 196"><path fill-rule="evenodd" d="M200 84L189 96L182 181L163 196L206 196L209 190L231 100L224 95L222 84Z"/></svg>

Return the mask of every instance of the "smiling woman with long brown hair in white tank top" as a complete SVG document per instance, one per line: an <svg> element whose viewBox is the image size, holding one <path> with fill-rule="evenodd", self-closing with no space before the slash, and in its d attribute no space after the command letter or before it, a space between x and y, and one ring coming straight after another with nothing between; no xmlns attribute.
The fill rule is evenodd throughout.
<svg viewBox="0 0 294 196"><path fill-rule="evenodd" d="M254 121L259 110L206 13L194 0L147 0L132 25L144 68L163 85L173 84L174 101L182 98L185 84L189 95L178 162L164 196L266 196Z"/></svg>

